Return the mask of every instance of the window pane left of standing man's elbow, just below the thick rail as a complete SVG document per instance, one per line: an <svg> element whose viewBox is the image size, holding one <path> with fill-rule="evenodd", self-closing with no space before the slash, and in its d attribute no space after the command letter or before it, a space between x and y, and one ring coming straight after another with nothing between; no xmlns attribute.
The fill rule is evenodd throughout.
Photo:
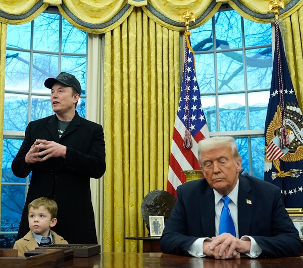
<svg viewBox="0 0 303 268"><path fill-rule="evenodd" d="M3 159L2 159L2 183L16 182L23 183L23 178L16 177L12 172L12 162L15 158L23 140L3 139Z"/></svg>

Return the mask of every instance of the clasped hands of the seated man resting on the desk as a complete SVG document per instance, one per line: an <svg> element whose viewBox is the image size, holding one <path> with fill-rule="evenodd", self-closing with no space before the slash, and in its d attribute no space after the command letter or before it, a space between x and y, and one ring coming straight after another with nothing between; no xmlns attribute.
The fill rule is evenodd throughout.
<svg viewBox="0 0 303 268"><path fill-rule="evenodd" d="M240 240L231 234L223 233L212 237L212 241L204 241L204 254L216 259L238 259L240 253L250 251L250 240Z"/></svg>

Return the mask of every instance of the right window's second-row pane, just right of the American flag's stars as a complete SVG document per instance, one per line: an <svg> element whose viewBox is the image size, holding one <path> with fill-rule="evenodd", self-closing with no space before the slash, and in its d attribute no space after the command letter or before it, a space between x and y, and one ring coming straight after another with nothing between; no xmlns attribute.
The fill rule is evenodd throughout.
<svg viewBox="0 0 303 268"><path fill-rule="evenodd" d="M196 76L200 93L216 91L214 54L195 55Z"/></svg>

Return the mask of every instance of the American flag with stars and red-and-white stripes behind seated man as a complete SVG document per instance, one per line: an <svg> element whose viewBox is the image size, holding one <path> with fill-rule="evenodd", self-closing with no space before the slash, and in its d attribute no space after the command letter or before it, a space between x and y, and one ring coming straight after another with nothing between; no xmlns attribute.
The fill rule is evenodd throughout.
<svg viewBox="0 0 303 268"><path fill-rule="evenodd" d="M186 181L183 170L199 170L200 140L209 137L205 115L200 101L200 90L195 73L194 52L185 31L185 61L181 94L171 146L167 191L177 198L176 189Z"/></svg>

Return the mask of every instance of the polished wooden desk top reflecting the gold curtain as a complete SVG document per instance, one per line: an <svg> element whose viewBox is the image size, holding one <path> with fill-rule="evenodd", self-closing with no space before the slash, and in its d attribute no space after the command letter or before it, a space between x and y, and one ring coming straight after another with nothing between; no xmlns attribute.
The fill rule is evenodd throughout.
<svg viewBox="0 0 303 268"><path fill-rule="evenodd" d="M164 253L110 253L103 252L89 258L73 258L60 267L104 267L104 268L291 268L303 267L302 257L216 260Z"/></svg>

